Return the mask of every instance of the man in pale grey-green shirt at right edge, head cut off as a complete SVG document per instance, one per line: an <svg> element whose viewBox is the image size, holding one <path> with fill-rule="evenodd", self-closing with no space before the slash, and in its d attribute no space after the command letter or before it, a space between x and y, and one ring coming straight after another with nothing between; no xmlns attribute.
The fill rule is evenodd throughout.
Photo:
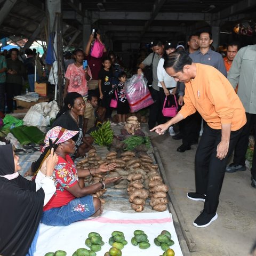
<svg viewBox="0 0 256 256"><path fill-rule="evenodd" d="M256 122L256 44L241 48L233 60L228 72L228 80L236 88L237 95L245 108L247 122L235 147L234 161L226 168L226 172L245 171L245 154L249 135ZM255 137L255 134L254 134ZM252 187L256 188L256 143L252 159Z"/></svg>

